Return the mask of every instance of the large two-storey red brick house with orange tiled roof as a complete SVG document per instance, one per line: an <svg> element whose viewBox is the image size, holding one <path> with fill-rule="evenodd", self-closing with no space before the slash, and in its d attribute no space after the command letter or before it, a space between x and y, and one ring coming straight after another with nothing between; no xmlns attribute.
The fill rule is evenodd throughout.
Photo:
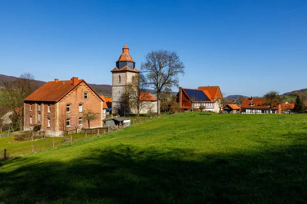
<svg viewBox="0 0 307 204"><path fill-rule="evenodd" d="M90 109L99 113L99 119L91 121L91 127L101 127L103 103L105 101L84 80L76 77L69 81L55 79L24 99L24 129L40 124L40 130L45 130L47 135L60 136L63 130L88 127L82 116Z"/></svg>

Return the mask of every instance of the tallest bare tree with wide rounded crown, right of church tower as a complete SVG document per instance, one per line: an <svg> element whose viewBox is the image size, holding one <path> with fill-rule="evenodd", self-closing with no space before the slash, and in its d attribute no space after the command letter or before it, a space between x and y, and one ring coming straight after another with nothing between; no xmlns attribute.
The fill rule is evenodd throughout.
<svg viewBox="0 0 307 204"><path fill-rule="evenodd" d="M146 82L157 93L157 113L160 115L161 94L171 87L179 87L179 74L184 74L184 64L176 52L160 49L151 51L141 64Z"/></svg>

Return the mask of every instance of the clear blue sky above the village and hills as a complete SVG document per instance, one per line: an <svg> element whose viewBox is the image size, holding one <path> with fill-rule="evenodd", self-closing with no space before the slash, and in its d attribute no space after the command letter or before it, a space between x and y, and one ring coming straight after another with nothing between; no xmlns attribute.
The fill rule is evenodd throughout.
<svg viewBox="0 0 307 204"><path fill-rule="evenodd" d="M175 50L185 88L247 96L307 88L305 0L0 0L0 19L0 74L111 85L127 41L136 67L151 50Z"/></svg>

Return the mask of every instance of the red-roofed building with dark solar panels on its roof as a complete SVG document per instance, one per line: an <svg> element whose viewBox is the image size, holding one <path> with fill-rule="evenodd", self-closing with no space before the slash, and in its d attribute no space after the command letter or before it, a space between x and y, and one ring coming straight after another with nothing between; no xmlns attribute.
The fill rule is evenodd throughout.
<svg viewBox="0 0 307 204"><path fill-rule="evenodd" d="M198 89L179 88L177 102L180 103L182 110L199 109L203 106L203 111L220 111L219 101L223 99L220 87L206 86Z"/></svg>

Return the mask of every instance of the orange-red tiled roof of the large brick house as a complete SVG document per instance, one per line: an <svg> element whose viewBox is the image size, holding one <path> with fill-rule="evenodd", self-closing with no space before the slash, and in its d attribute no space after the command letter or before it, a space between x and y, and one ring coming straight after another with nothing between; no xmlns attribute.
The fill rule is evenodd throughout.
<svg viewBox="0 0 307 204"><path fill-rule="evenodd" d="M76 79L76 78L75 78ZM78 80L78 79L77 79ZM84 82L87 86L89 86L92 91L99 96L94 89L87 84L84 80L78 80L77 83L73 86L73 79L69 81L52 81L47 82L42 85L40 88L35 90L32 94L27 96L25 101L55 101L58 102L65 95L71 92L74 88L76 88L81 82Z"/></svg>

